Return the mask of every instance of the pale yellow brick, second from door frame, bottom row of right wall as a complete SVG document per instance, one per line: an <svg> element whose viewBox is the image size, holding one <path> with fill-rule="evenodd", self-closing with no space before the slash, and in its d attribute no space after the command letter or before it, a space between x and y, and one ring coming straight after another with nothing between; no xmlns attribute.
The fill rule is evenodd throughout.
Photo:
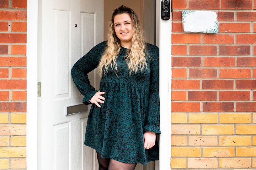
<svg viewBox="0 0 256 170"><path fill-rule="evenodd" d="M218 168L218 159L188 158L188 168Z"/></svg>

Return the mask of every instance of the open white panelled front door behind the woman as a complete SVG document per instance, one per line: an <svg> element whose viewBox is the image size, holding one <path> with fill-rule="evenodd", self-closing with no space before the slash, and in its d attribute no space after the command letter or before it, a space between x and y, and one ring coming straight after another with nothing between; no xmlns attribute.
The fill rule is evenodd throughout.
<svg viewBox="0 0 256 170"><path fill-rule="evenodd" d="M84 145L88 110L65 115L80 104L70 75L74 63L103 41L103 0L39 2L38 170L96 170L96 152ZM90 83L99 89L96 71Z"/></svg>

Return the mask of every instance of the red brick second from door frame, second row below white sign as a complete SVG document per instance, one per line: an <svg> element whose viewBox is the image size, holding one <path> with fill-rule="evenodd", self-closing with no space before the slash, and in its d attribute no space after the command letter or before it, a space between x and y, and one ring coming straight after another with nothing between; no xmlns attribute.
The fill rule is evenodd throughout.
<svg viewBox="0 0 256 170"><path fill-rule="evenodd" d="M191 45L190 55L217 55L216 45Z"/></svg>

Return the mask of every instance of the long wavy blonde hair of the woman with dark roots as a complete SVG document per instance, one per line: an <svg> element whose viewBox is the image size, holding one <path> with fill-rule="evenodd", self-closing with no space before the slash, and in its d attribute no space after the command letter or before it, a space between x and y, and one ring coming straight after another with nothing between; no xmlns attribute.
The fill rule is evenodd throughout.
<svg viewBox="0 0 256 170"><path fill-rule="evenodd" d="M122 5L113 11L111 21L108 23L109 29L108 29L108 35L107 35L107 39L108 39L107 47L105 49L105 52L101 56L101 60L98 64L98 74L100 75L100 77L102 76L103 66L105 67L104 69L104 74L105 74L108 70L109 64L111 64L112 69L114 65L116 69L116 75L117 75L116 58L117 58L117 55L119 54L121 46L120 46L120 40L117 37L114 30L114 17L118 14L123 14L123 13L129 14L130 18L132 19L132 26L133 26L132 48L127 49L127 55L126 55L127 57L126 62L128 65L129 73L130 75L132 74L132 72L137 73L138 69L142 71L144 67L148 69L145 56L148 56L148 57L150 56L148 51L146 50L146 39L145 39L143 28L140 24L140 21L136 13L131 8Z"/></svg>

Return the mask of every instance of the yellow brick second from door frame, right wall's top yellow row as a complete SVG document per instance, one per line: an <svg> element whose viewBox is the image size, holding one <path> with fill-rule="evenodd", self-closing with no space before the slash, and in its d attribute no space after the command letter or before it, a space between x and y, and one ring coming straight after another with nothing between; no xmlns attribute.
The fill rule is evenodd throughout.
<svg viewBox="0 0 256 170"><path fill-rule="evenodd" d="M188 123L218 123L217 114L188 114Z"/></svg>

